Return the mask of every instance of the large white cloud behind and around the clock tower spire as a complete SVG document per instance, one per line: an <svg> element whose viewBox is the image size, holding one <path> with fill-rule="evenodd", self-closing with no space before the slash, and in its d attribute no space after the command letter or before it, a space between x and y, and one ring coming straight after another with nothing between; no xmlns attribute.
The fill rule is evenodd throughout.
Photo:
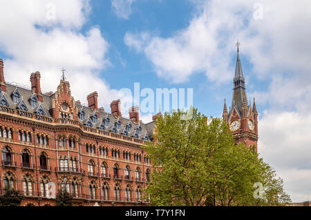
<svg viewBox="0 0 311 220"><path fill-rule="evenodd" d="M147 30L127 32L124 43L145 54L158 77L169 82L203 72L221 83L232 80L229 65L239 39L241 57L252 64L245 77L267 82L266 91L251 94L258 104L269 104L260 115L258 149L283 175L293 200L303 201L311 183L311 1L263 0L259 8L249 0L191 1L198 9L187 28L167 38ZM255 19L261 9L263 19Z"/></svg>

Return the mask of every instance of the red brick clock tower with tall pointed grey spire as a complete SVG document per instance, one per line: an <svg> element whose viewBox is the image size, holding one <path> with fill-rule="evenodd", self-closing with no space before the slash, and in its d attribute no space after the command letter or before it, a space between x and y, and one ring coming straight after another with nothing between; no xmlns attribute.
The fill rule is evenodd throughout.
<svg viewBox="0 0 311 220"><path fill-rule="evenodd" d="M239 45L240 43L237 42L237 48ZM234 75L233 83L234 88L231 107L229 107L228 112L225 100L225 105L223 107L223 119L229 123L229 128L232 131L236 143L245 143L245 146L254 147L257 151L258 112L256 109L255 99L253 108L250 100L249 105L247 105L245 79L243 77L239 51L236 57L236 73Z"/></svg>

